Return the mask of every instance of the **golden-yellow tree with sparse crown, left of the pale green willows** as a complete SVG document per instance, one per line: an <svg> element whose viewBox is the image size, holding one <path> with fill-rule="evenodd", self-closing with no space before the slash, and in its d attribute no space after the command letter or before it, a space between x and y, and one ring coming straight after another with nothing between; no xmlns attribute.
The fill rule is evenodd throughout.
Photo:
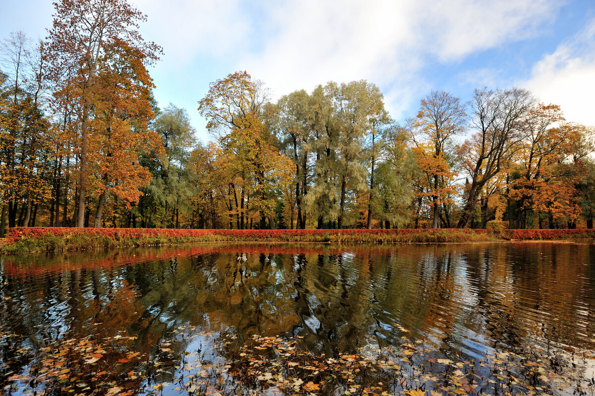
<svg viewBox="0 0 595 396"><path fill-rule="evenodd" d="M274 134L263 121L267 95L261 83L245 71L214 81L199 112L217 138L218 158L227 163L228 201L235 208L237 226L246 226L245 201L258 213L259 227L273 227L278 186L289 183L292 162L279 152ZM231 213L230 213L231 214Z"/></svg>

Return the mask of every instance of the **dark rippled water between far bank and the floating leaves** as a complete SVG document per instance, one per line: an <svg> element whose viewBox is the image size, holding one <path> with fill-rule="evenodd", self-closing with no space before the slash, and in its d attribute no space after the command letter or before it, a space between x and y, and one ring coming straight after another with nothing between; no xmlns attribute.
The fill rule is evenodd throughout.
<svg viewBox="0 0 595 396"><path fill-rule="evenodd" d="M186 326L300 335L329 355L398 345L403 331L464 359L524 344L595 350L592 244L130 249L4 256L0 274L2 329L33 350L124 334L147 353ZM172 345L174 360L189 347Z"/></svg>

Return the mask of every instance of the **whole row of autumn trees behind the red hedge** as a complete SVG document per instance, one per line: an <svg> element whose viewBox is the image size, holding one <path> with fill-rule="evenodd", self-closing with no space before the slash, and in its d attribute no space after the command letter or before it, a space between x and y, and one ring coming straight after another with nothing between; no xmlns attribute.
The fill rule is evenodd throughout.
<svg viewBox="0 0 595 396"><path fill-rule="evenodd" d="M402 124L365 80L271 100L239 71L198 110L159 108L161 48L126 0L60 0L48 36L2 42L7 227L593 227L593 127L526 89L433 91Z"/></svg>

